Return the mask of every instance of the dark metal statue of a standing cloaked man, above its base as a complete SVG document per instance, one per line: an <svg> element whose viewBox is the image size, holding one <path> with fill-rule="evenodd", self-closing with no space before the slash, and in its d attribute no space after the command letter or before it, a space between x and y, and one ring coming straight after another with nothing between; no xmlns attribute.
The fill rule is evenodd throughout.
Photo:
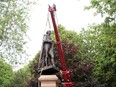
<svg viewBox="0 0 116 87"><path fill-rule="evenodd" d="M51 31L47 31L43 37L43 47L40 55L39 65L41 68L44 66L54 66L54 53L53 53L53 40L51 39ZM39 67L40 68L40 67Z"/></svg>

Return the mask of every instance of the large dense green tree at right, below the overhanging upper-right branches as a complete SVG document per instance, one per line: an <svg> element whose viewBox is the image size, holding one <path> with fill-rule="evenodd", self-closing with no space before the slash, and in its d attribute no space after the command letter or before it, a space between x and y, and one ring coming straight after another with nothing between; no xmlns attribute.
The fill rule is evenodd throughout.
<svg viewBox="0 0 116 87"><path fill-rule="evenodd" d="M93 74L105 87L116 85L116 30L113 26L91 25L81 33L80 53L84 59L94 62Z"/></svg>

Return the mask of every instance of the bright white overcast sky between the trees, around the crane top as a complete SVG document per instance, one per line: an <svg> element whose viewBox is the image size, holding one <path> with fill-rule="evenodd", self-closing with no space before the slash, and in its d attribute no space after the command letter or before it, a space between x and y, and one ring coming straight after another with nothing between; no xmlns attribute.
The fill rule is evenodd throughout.
<svg viewBox="0 0 116 87"><path fill-rule="evenodd" d="M84 11L84 6L89 5L90 0L39 0L39 5L32 7L30 11L30 27L28 36L27 53L33 59L41 49L42 37L47 28L48 4L56 5L58 24L68 30L79 32L81 28L86 28L88 24L101 23L103 20L98 15L93 16L95 10ZM50 15L49 20L51 21ZM52 26L52 24L51 24Z"/></svg>

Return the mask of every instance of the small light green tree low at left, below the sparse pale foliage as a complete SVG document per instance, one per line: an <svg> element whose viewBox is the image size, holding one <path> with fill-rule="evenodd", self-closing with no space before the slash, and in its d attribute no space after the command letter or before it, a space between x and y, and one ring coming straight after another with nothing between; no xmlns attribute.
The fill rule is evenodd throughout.
<svg viewBox="0 0 116 87"><path fill-rule="evenodd" d="M31 78L31 73L28 66L15 71L8 87L26 87L28 80Z"/></svg>

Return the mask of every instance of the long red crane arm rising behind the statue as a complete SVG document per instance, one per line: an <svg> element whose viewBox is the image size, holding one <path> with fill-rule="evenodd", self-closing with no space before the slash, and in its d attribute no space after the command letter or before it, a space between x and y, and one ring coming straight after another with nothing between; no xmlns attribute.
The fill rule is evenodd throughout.
<svg viewBox="0 0 116 87"><path fill-rule="evenodd" d="M54 27L54 33L55 33L55 37L56 37L56 43L57 43L58 52L60 55L60 61L62 64L62 73L61 73L61 77L63 78L62 84L64 85L64 87L73 87L73 82L70 79L72 71L68 70L66 67L66 62L64 59L64 54L63 54L63 49L62 49L62 44L61 44L60 36L58 33L58 27L57 27L56 21L55 21L54 12L56 11L56 6L55 5L53 5L53 7L49 6L48 10L51 14L51 19L52 19L52 23L53 23L53 27Z"/></svg>

